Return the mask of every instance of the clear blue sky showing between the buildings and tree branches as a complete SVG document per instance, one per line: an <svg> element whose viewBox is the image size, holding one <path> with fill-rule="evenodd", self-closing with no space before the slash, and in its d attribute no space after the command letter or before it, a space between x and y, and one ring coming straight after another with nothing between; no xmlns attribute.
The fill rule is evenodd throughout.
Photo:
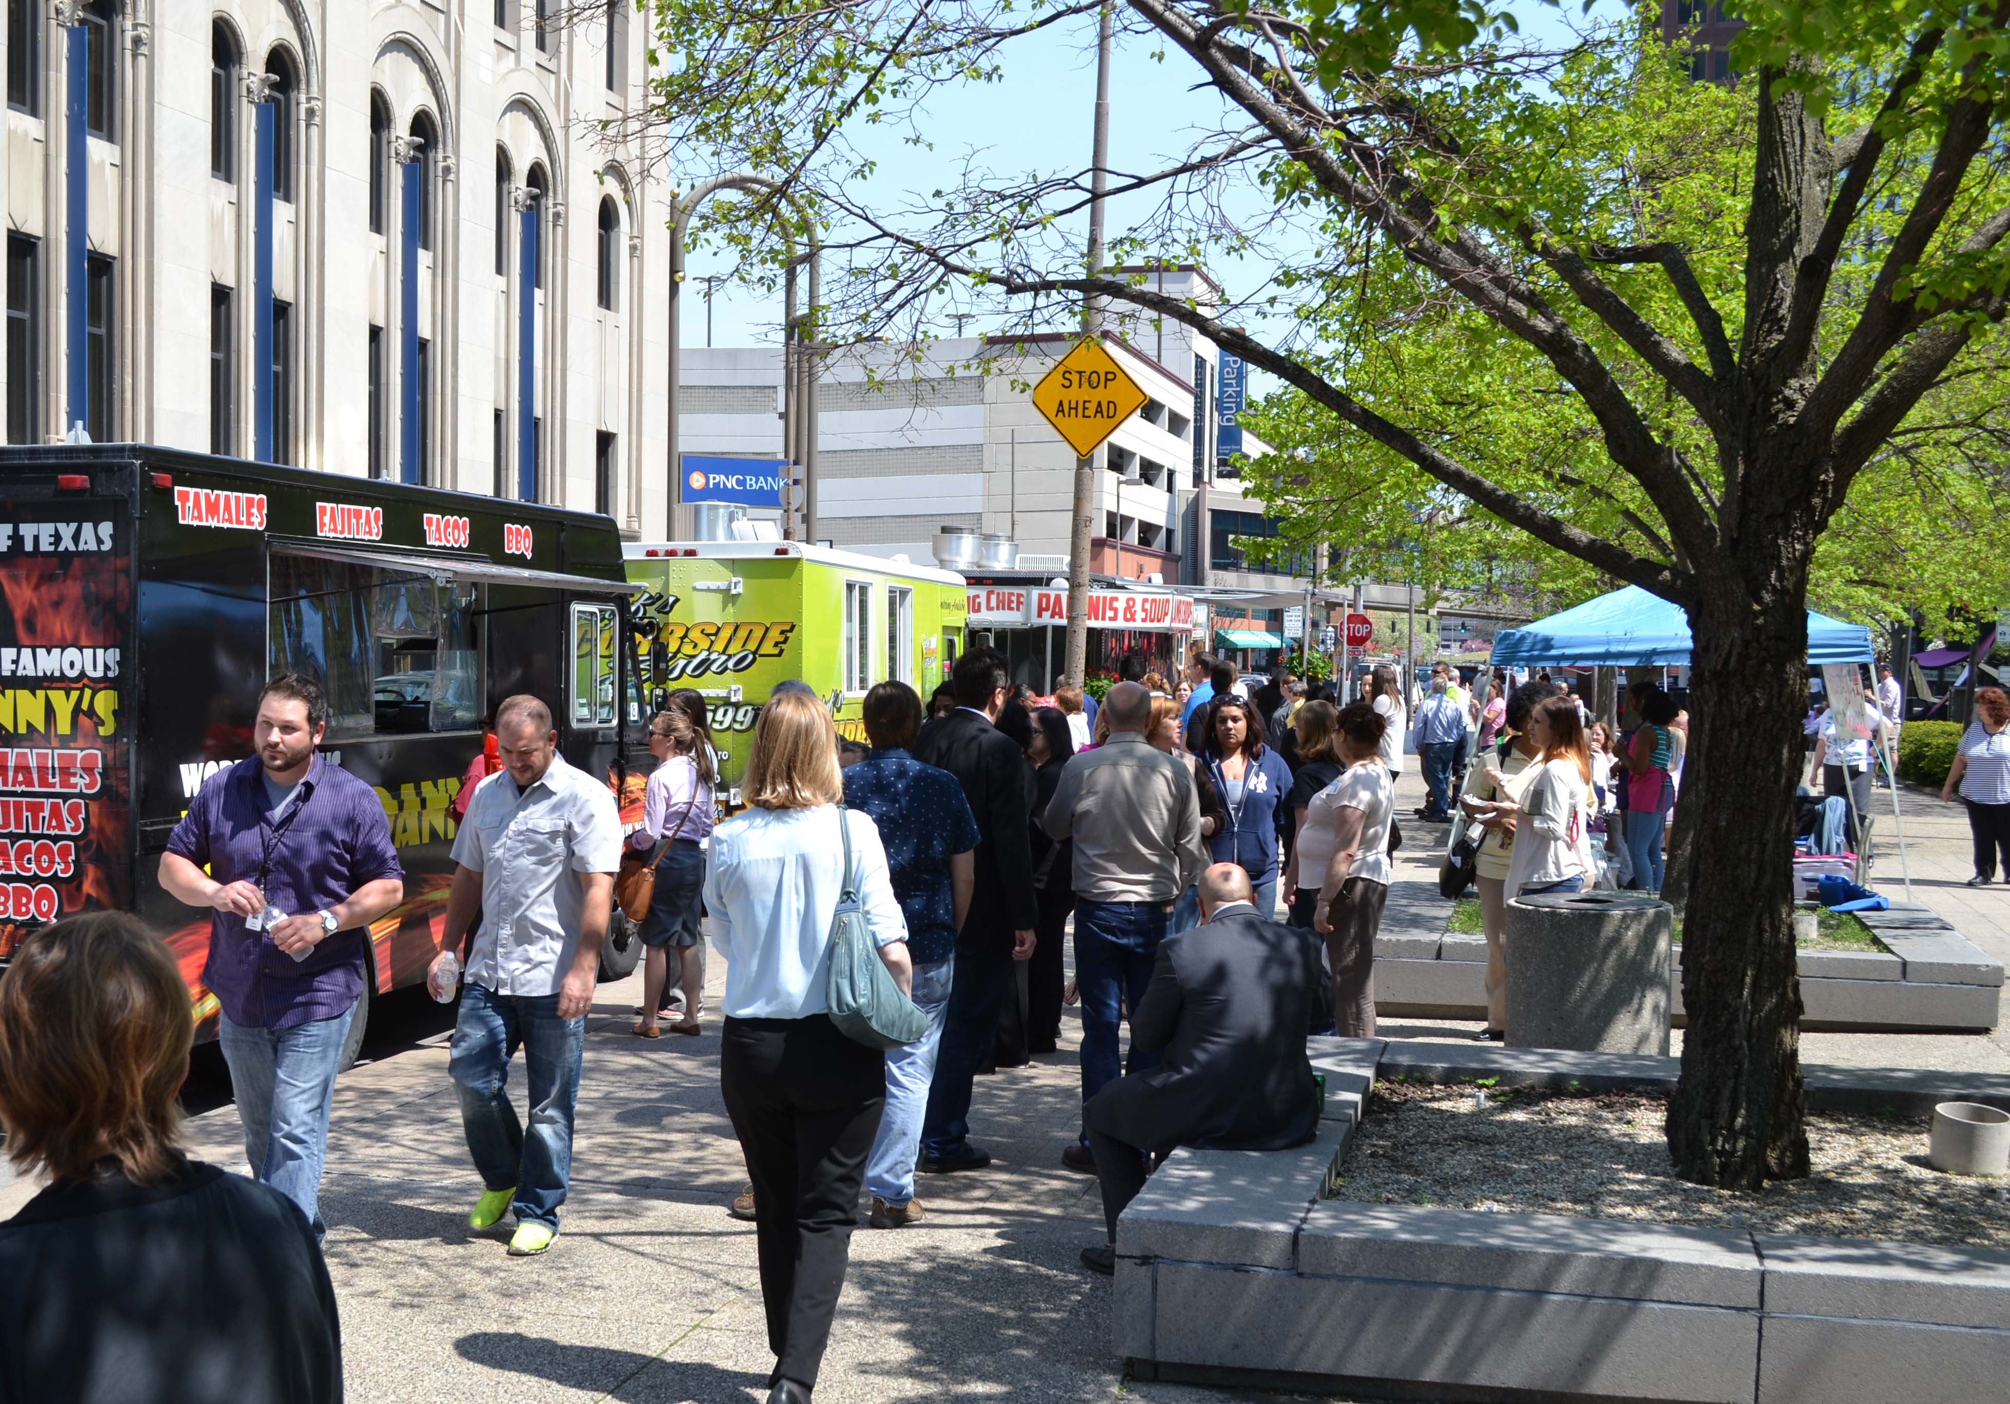
<svg viewBox="0 0 2010 1404"><path fill-rule="evenodd" d="M1576 12L1580 0L1566 4ZM1560 12L1552 6L1518 0L1514 8L1524 32L1560 28ZM1600 0L1598 8L1612 12L1614 0ZM1110 82L1110 165L1118 173L1160 169L1186 155L1196 135L1220 131L1224 121L1222 99L1208 89L1192 89L1200 78L1194 62L1178 52L1154 62L1154 46L1150 36L1118 40ZM997 84L969 84L931 99L927 131L933 151L902 145L886 129L856 129L854 143L878 161L878 171L864 189L854 187L852 197L872 197L882 205L915 203L951 181L967 153L981 153L985 165L1005 177L1087 167L1095 105L1093 18L1083 16L1065 28L1017 40L1005 50L1003 68L1005 78ZM1246 193L1242 207L1256 213L1262 205L1254 193ZM1118 231L1148 213L1144 197L1112 201L1110 227ZM1085 237L1085 215L1077 223ZM1272 276L1268 259L1216 255L1208 259L1208 268L1230 298L1260 292ZM693 251L683 300L685 346L706 344L706 300L697 280L726 272L730 259L722 251ZM780 296L722 286L714 296L712 316L716 346L774 344ZM995 322L975 320L965 330L977 334L991 326ZM953 330L939 328L941 334ZM1260 392L1266 386L1254 388Z"/></svg>

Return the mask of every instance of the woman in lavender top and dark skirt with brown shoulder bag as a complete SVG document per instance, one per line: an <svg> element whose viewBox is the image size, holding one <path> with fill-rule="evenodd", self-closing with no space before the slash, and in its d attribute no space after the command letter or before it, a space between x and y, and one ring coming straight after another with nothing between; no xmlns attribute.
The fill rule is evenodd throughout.
<svg viewBox="0 0 2010 1404"><path fill-rule="evenodd" d="M643 955L641 1022L637 1038L661 1038L657 1024L663 984L669 980L669 951L677 951L677 984L683 986L683 1018L669 1026L671 1034L697 1034L697 996L703 988L703 966L697 959L706 887L706 849L712 835L712 746L691 724L691 718L665 708L649 722L649 754L655 770L641 795L641 827L629 835L629 847L655 855L655 889L649 911L641 919Z"/></svg>

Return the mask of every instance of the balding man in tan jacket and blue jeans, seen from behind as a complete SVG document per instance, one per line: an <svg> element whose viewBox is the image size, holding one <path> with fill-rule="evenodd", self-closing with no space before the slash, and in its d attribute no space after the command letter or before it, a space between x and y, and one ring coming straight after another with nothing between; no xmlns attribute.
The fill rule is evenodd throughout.
<svg viewBox="0 0 2010 1404"><path fill-rule="evenodd" d="M1075 841L1075 988L1081 994L1081 1100L1120 1070L1118 1022L1152 984L1172 903L1208 865L1200 801L1186 766L1146 740L1152 694L1120 682L1103 698L1110 740L1077 754L1041 819L1053 839ZM1154 1054L1130 1058L1130 1072ZM1087 1132L1061 1155L1095 1173Z"/></svg>

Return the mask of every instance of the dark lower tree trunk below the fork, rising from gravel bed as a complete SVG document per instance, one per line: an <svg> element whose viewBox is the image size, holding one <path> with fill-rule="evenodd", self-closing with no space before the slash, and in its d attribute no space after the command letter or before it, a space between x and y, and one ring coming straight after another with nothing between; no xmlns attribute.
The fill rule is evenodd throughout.
<svg viewBox="0 0 2010 1404"><path fill-rule="evenodd" d="M1807 1175L1793 966L1803 599L1805 589L1787 587L1759 603L1737 581L1715 579L1690 613L1684 788L1702 803L1692 807L1682 919L1688 1032L1668 1104L1668 1155L1684 1179L1725 1189Z"/></svg>

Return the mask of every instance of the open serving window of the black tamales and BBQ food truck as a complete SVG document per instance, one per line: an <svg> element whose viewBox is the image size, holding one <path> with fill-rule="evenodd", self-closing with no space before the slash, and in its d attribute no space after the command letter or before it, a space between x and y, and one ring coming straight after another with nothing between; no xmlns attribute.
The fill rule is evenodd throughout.
<svg viewBox="0 0 2010 1404"><path fill-rule="evenodd" d="M320 678L328 738L472 730L482 718L480 585L271 553L273 672Z"/></svg>

